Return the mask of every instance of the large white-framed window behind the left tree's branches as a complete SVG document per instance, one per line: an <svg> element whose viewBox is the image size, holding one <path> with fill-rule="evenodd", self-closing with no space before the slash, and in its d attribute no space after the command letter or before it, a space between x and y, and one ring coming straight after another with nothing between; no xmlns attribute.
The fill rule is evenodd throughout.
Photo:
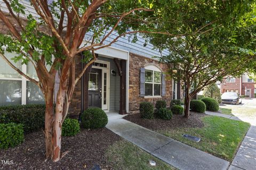
<svg viewBox="0 0 256 170"><path fill-rule="evenodd" d="M16 56L15 53L4 53L5 57L23 73L29 75L33 79L37 79L37 75L33 64L22 65L21 61L14 63L11 58ZM3 105L24 105L24 104L44 104L44 96L42 91L33 83L23 78L17 71L7 64L0 57L0 106ZM50 66L47 66L47 69Z"/></svg>

